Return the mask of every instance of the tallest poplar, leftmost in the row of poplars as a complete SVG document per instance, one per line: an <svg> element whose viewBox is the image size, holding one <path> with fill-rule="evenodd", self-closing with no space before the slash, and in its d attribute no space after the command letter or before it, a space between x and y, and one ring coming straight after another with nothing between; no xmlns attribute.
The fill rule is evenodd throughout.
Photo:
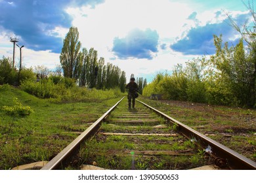
<svg viewBox="0 0 256 183"><path fill-rule="evenodd" d="M70 27L70 31L63 41L60 63L65 77L78 79L81 73L81 42L77 27Z"/></svg>

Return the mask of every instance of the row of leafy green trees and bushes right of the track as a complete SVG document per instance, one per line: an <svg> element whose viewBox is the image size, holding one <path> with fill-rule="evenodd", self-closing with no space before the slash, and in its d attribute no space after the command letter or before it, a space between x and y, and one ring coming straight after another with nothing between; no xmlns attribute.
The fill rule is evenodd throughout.
<svg viewBox="0 0 256 183"><path fill-rule="evenodd" d="M178 64L171 75L158 74L143 95L160 93L164 99L256 107L256 42L244 48L243 40L229 48L227 42L223 46L221 36L214 36L215 55Z"/></svg>

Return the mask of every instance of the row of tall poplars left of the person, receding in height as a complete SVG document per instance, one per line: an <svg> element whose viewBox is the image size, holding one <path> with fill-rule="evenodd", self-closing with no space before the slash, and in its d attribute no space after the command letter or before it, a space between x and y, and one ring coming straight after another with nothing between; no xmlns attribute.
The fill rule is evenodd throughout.
<svg viewBox="0 0 256 183"><path fill-rule="evenodd" d="M60 63L65 77L79 81L79 86L96 89L119 88L125 92L126 77L116 65L98 59L98 52L91 48L81 50L77 27L70 27L60 54Z"/></svg>

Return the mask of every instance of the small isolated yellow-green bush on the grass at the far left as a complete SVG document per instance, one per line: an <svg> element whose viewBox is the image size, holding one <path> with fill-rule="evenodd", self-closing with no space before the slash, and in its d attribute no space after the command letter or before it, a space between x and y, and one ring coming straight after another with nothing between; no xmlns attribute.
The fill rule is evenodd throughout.
<svg viewBox="0 0 256 183"><path fill-rule="evenodd" d="M22 106L20 101L18 101L17 98L13 99L14 106L3 106L2 110L10 116L29 116L32 112L33 109L26 106Z"/></svg>

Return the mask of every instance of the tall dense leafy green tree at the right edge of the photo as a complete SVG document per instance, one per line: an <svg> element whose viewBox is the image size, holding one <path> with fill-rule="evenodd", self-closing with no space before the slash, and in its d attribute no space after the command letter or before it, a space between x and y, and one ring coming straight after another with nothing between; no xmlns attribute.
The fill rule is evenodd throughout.
<svg viewBox="0 0 256 183"><path fill-rule="evenodd" d="M219 71L216 80L230 93L227 103L232 105L255 105L255 54L245 53L243 39L236 46L222 46L222 37L215 36L216 54L211 58ZM254 58L254 59L253 59ZM218 83L218 82L217 82Z"/></svg>

